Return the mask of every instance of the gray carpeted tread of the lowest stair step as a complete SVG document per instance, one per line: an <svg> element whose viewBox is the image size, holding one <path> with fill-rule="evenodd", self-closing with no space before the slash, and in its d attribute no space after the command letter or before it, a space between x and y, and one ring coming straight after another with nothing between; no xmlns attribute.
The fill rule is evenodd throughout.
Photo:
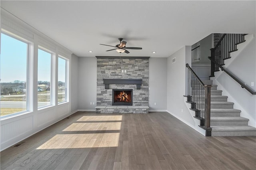
<svg viewBox="0 0 256 170"><path fill-rule="evenodd" d="M255 127L246 125L236 126L211 126L212 131L256 131Z"/></svg>

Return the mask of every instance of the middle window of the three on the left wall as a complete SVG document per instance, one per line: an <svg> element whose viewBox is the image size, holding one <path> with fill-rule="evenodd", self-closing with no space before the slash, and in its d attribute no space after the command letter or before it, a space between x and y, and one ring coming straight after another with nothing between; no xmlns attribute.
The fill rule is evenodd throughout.
<svg viewBox="0 0 256 170"><path fill-rule="evenodd" d="M38 108L52 104L51 63L52 54L42 49L38 49Z"/></svg>

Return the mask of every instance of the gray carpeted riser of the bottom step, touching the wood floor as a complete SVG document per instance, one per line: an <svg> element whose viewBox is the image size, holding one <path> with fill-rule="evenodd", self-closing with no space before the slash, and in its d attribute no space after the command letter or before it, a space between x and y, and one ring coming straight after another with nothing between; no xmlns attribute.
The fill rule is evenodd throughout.
<svg viewBox="0 0 256 170"><path fill-rule="evenodd" d="M256 136L256 131L212 131L212 136Z"/></svg>

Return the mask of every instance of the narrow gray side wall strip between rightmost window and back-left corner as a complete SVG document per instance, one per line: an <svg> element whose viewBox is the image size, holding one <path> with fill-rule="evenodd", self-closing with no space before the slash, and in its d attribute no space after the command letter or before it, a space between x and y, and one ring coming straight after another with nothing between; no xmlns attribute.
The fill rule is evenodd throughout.
<svg viewBox="0 0 256 170"><path fill-rule="evenodd" d="M78 109L78 56L72 54L71 56L71 76L70 76L70 103L71 113Z"/></svg>

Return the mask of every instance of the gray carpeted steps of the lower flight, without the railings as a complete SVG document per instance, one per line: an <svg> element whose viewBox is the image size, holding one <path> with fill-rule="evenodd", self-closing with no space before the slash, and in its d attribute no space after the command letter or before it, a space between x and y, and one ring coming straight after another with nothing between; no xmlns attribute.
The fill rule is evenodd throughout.
<svg viewBox="0 0 256 170"><path fill-rule="evenodd" d="M203 81L212 85L212 80ZM228 96L222 96L217 85L211 88L210 127L212 136L256 136L256 128L248 126L249 119L240 117L241 111L234 109L234 103L227 101ZM204 101L202 98L201 101ZM204 103L204 102L203 102Z"/></svg>

